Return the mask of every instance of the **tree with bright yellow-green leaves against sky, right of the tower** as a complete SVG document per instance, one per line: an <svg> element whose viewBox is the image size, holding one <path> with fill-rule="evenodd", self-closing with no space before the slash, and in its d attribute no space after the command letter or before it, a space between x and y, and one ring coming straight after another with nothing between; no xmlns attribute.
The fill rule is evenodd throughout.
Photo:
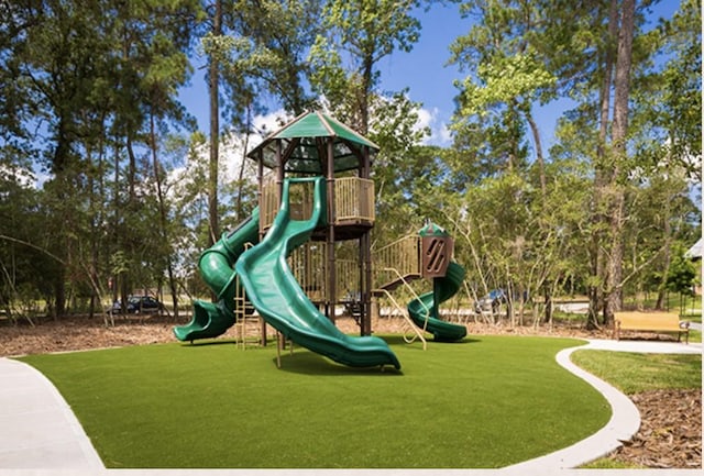
<svg viewBox="0 0 704 476"><path fill-rule="evenodd" d="M525 165L529 130L544 195L542 140L532 108L556 96L557 78L541 51L550 9L544 2L506 0L468 1L461 11L480 20L451 45L451 63L468 71L457 85L460 92L452 128L464 136L484 131L490 137L485 153L506 170Z"/></svg>

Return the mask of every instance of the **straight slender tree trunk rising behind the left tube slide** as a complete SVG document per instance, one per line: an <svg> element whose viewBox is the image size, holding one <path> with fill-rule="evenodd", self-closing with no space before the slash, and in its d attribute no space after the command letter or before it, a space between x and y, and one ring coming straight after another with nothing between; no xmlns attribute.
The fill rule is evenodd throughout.
<svg viewBox="0 0 704 476"><path fill-rule="evenodd" d="M216 0L216 11L212 18L212 34L215 36L222 35L221 0ZM217 57L211 55L208 70L208 92L210 95L210 166L208 177L209 246L212 246L220 236L220 224L218 222L218 160L220 147L219 68L220 65Z"/></svg>

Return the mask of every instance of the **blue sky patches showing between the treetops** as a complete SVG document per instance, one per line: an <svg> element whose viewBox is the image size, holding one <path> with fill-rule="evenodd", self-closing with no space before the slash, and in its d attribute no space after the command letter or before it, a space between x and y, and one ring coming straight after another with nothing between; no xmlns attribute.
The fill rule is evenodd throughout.
<svg viewBox="0 0 704 476"><path fill-rule="evenodd" d="M679 3L673 0L660 0L652 8L650 27L657 24L658 18L671 18ZM458 92L453 81L464 76L457 66L447 65L450 58L449 46L457 37L470 31L472 20L460 18L459 7L454 3L433 4L428 12L419 12L418 19L421 21L422 30L414 49L409 53L395 52L380 62L381 89L399 91L409 88L410 99L422 103L421 125L428 125L432 130L428 143L449 145L450 137L446 124L454 110L453 99ZM194 58L196 68L204 64L205 58ZM197 70L190 86L182 89L180 99L186 109L196 117L199 129L209 131L208 89L202 69ZM551 145L557 121L569 107L569 100L560 100L537 107L535 110L544 148Z"/></svg>

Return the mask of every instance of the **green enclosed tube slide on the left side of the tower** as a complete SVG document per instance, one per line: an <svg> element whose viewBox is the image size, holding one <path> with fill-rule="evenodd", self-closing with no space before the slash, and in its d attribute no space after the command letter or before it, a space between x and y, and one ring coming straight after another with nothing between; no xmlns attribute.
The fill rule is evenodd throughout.
<svg viewBox="0 0 704 476"><path fill-rule="evenodd" d="M257 243L260 213L255 208L252 215L237 229L206 250L198 261L204 280L218 297L218 302L196 300L194 317L186 325L175 326L174 334L179 341L211 339L223 334L235 322L234 296L237 292L234 263L244 252L246 243Z"/></svg>

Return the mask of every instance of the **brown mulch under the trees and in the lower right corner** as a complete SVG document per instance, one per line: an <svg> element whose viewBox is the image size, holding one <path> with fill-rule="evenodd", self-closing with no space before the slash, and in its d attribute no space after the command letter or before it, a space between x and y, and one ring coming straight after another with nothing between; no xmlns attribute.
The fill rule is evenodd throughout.
<svg viewBox="0 0 704 476"><path fill-rule="evenodd" d="M185 323L187 319L179 319ZM63 318L40 320L32 326L26 321L12 323L0 320L0 357L51 352L68 352L127 345L174 342L175 322L167 317L138 319L116 318L114 326L106 326L102 318ZM341 318L337 325L343 332L358 332L352 319ZM400 319L376 319L373 329L378 333L403 332ZM587 331L580 323L538 328L469 322L470 335L547 335L563 337L609 339L605 330ZM270 335L274 335L273 332ZM226 334L226 339L234 334ZM653 334L634 334L637 339L671 339ZM702 467L702 390L653 390L630 396L641 416L641 428L609 458L648 468Z"/></svg>

